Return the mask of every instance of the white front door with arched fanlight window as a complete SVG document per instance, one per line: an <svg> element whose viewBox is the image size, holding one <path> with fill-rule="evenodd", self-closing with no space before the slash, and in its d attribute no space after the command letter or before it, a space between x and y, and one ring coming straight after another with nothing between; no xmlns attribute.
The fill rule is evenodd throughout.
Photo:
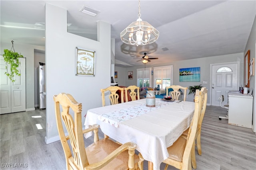
<svg viewBox="0 0 256 170"><path fill-rule="evenodd" d="M239 90L239 62L212 64L212 106L220 106L219 97L224 95L228 103L228 91Z"/></svg>

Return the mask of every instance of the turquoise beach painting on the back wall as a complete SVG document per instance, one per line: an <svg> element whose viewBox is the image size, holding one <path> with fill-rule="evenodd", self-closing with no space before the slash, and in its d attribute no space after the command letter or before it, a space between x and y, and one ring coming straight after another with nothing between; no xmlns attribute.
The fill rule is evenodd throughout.
<svg viewBox="0 0 256 170"><path fill-rule="evenodd" d="M180 68L180 82L200 82L200 67Z"/></svg>

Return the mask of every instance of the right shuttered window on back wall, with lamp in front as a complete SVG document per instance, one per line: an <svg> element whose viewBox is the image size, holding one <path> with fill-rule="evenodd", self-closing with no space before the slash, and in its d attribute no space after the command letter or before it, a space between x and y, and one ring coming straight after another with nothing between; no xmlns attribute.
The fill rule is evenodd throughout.
<svg viewBox="0 0 256 170"><path fill-rule="evenodd" d="M172 65L154 67L154 86L156 87L156 80L162 80L160 89L165 89L172 85Z"/></svg>

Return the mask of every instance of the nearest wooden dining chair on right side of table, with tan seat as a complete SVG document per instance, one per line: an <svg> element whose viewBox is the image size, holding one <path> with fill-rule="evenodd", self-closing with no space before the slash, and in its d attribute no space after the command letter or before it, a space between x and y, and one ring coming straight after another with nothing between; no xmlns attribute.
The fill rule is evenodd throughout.
<svg viewBox="0 0 256 170"><path fill-rule="evenodd" d="M195 110L190 127L188 130L187 138L182 135L173 143L172 146L168 147L169 156L163 162L166 163L164 170L168 168L168 165L174 166L180 170L191 170L191 149L194 145L194 140L196 137L196 128L198 125L199 115L202 110L200 103L202 98L200 98L199 89L196 90L195 95Z"/></svg>

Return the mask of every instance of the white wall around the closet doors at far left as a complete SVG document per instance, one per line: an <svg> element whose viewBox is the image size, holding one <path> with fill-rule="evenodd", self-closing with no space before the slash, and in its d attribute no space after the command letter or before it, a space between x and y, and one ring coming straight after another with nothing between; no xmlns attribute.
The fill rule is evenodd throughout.
<svg viewBox="0 0 256 170"><path fill-rule="evenodd" d="M3 32L1 32L2 34ZM12 43L1 42L1 54L4 53L4 49L11 49ZM34 102L34 49L44 50L42 46L36 45L22 45L14 41L15 52L21 53L23 57L26 57L26 111L35 109Z"/></svg>

